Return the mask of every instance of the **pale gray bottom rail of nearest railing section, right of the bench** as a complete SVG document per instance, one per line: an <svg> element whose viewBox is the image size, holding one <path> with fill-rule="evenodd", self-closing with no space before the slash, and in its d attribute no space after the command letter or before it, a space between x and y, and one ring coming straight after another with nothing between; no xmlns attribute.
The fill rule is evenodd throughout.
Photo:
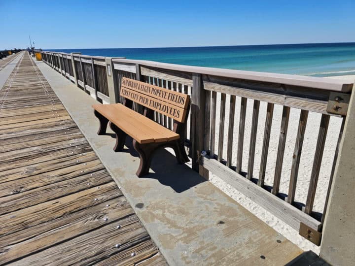
<svg viewBox="0 0 355 266"><path fill-rule="evenodd" d="M322 225L320 221L317 221L296 207L284 202L284 200L275 197L270 192L250 182L241 174L224 166L217 160L205 157L203 159L203 165L224 182L252 199L255 203L263 206L264 209L283 220L295 230L299 230L300 222L314 230L320 230Z"/></svg>

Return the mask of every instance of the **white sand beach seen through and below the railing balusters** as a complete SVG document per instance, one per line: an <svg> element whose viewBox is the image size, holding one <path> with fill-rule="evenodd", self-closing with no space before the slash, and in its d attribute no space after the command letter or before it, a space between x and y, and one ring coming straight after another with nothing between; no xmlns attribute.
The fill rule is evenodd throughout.
<svg viewBox="0 0 355 266"><path fill-rule="evenodd" d="M337 76L331 78L340 78L347 80L355 79L355 75L348 76ZM250 140L250 128L251 128L251 114L252 114L252 105L253 101L248 100L247 105L247 118L245 126L245 139L244 139L244 155L243 155L243 166L242 171L247 171L248 167L248 155L249 155L249 140ZM219 125L219 106L220 106L220 94L217 94L217 109L216 109L216 142L215 142L215 151L218 148L218 125ZM266 102L260 103L259 110L259 122L256 138L256 148L255 148L255 161L254 161L254 178L258 177L260 160L261 160L261 151L262 151L262 142L265 126L265 117L266 117ZM233 136L233 160L232 165L236 164L236 151L238 145L238 125L239 125L239 108L240 108L240 98L236 99L236 114L234 120L234 136ZM281 116L282 116L283 106L276 105L274 107L274 116L271 129L268 161L266 167L266 177L265 185L272 186L275 163L277 156L277 149L279 143L280 135L280 126L281 126ZM286 138L285 152L284 152L284 163L283 171L281 176L280 184L280 193L287 194L290 169L292 164L292 155L294 150L294 143L297 134L298 121L299 121L300 110L291 108L288 132ZM225 112L225 126L224 126L224 135L225 139L228 135L228 117L229 117L229 96L226 99L226 112ZM320 117L321 114L309 112L308 122L306 127L306 133L303 143L303 150L300 161L300 168L298 173L297 188L295 201L305 202L307 198L307 192L309 187L310 173L312 171L314 154L316 149L318 131L320 126ZM341 118L331 117L329 122L328 133L325 142L324 154L322 158L322 164L320 168L320 176L318 181L318 187L316 192L316 199L314 204L314 211L323 212L324 201L326 197L326 192L329 183L329 175L333 163L334 152L336 148L336 143L339 136L341 126ZM227 141L224 141L223 148L223 158L226 158L227 153ZM191 164L189 164L191 166ZM267 223L277 232L283 234L293 243L297 244L303 250L312 250L315 253L319 254L320 247L314 245L310 241L306 240L298 234L296 230L285 224L283 221L272 215L270 212L263 209L261 206L254 203L249 198L245 197L242 193L238 192L236 189L232 188L230 185L222 181L218 176L210 173L210 182L212 182L216 187L222 190L224 193L229 195L231 198L235 199L238 203L243 205L246 209L256 215L259 219Z"/></svg>

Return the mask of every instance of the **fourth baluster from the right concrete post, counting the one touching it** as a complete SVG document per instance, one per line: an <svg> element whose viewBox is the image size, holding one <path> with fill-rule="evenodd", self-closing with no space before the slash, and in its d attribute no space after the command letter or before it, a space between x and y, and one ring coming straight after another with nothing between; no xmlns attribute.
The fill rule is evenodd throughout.
<svg viewBox="0 0 355 266"><path fill-rule="evenodd" d="M283 114L281 119L281 128L280 128L280 137L279 137L279 147L278 153L276 156L276 165L275 165L275 175L274 175L274 184L271 193L277 195L280 189L280 181L281 181L281 173L282 173L282 166L284 162L284 147L286 144L286 136L287 136L287 129L288 129L288 119L289 119L289 112L290 107L284 106Z"/></svg>

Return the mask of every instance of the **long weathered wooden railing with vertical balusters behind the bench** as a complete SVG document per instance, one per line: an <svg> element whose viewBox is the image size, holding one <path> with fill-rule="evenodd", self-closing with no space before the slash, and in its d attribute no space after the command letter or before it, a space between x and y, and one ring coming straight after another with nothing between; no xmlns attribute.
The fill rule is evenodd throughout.
<svg viewBox="0 0 355 266"><path fill-rule="evenodd" d="M328 204L330 188L337 164L339 143L347 117L353 81L287 74L239 71L209 67L180 66L124 58L103 58L80 54L36 51L45 63L52 66L79 88L104 103L121 102L122 77L178 91L191 96L192 104L185 132L186 146L192 168L208 178L209 171L226 183L282 219L301 235L320 244L320 233ZM247 106L252 106L251 116ZM266 108L260 109L261 105ZM281 105L281 108L280 108ZM278 108L276 108L278 106ZM135 110L142 111L135 105ZM298 121L290 121L290 110L299 109ZM260 121L260 110L265 120ZM275 113L277 111L277 113ZM319 113L320 125L313 155L309 188L304 202L295 202L298 172L307 118ZM281 117L278 133L277 160L272 174L267 174L269 143L273 116ZM323 211L314 212L320 166L326 144L330 118L340 120L339 136L329 175ZM154 121L172 129L173 121L156 113ZM288 125L298 124L295 134L292 164L284 169L285 144ZM246 132L246 124L250 132ZM255 160L257 131L263 128L259 161ZM235 134L238 132L238 134ZM250 133L250 134L249 134ZM247 137L248 135L248 137ZM248 140L248 143L246 143ZM226 144L226 145L225 145ZM246 151L248 156L246 156ZM246 166L246 167L243 167ZM289 171L287 195L280 193L283 171ZM271 185L265 180L272 179ZM312 235L311 233L312 232Z"/></svg>

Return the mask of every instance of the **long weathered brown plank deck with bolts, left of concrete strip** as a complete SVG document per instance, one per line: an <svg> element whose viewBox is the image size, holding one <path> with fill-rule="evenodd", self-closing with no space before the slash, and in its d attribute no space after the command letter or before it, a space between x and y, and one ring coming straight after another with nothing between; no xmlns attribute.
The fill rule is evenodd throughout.
<svg viewBox="0 0 355 266"><path fill-rule="evenodd" d="M0 90L0 265L166 265L27 52Z"/></svg>

